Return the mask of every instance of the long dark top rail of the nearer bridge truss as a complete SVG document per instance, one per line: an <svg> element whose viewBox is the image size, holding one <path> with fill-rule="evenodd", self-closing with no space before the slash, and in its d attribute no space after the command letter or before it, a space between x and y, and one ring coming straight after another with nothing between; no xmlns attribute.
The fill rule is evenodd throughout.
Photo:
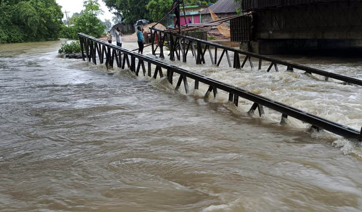
<svg viewBox="0 0 362 212"><path fill-rule="evenodd" d="M171 66L171 65L169 65L167 63L164 63L164 62L162 62L160 60L154 60L151 57L147 57L147 56L142 55L142 54L137 54L137 53L129 51L127 49L120 48L120 47L108 44L105 41L90 37L90 36L88 36L86 34L78 33L78 35L81 35L83 37L86 37L88 39L91 39L91 40L99 42L99 43L103 43L106 46L109 46L109 47L111 47L113 49L122 51L125 54L129 54L129 55L132 55L134 57L137 57L138 59L142 59L144 61L153 63L156 66L160 66L160 67L163 67L163 68L170 68L174 72L176 72L176 73L178 73L180 75L181 74L185 75L186 77L189 77L189 78L194 79L194 80L197 79L198 81L200 81L202 83L205 83L205 84L207 84L209 86L216 87L216 88L221 89L221 90L223 90L225 92L231 92L231 93L233 93L235 95L234 103L236 101L236 98L238 98L240 96L240 97L242 97L244 99L247 99L249 101L258 103L260 105L263 105L264 107L268 107L268 108L270 108L272 110L278 111L278 112L280 112L282 114L286 114L286 115L291 116L293 118L296 118L296 119L298 119L298 120L300 120L302 122L312 124L312 125L317 126L317 127L321 128L321 129L324 129L326 131L329 131L329 132L335 133L337 135L346 137L348 139L356 139L356 140L358 140L358 139L361 138L361 132L358 131L358 130L355 130L353 128L344 126L342 124L335 123L333 121L330 121L330 120L324 119L322 117L316 116L314 114L305 112L303 110L288 106L288 105L283 104L281 102L274 101L272 99L263 97L261 95L253 94L253 93L251 93L251 92L249 92L247 90L244 90L242 88L235 87L235 86L232 86L232 85L228 85L226 83L223 83L223 82L208 78L206 76L202 76L200 74L193 73L191 71L188 71L188 70L176 67L176 66Z"/></svg>

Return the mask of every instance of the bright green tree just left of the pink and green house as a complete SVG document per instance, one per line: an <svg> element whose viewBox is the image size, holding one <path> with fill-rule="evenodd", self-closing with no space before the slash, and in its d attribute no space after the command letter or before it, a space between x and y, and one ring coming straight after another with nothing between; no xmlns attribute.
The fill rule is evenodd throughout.
<svg viewBox="0 0 362 212"><path fill-rule="evenodd" d="M171 8L173 0L150 0L146 5L152 19L160 20Z"/></svg>

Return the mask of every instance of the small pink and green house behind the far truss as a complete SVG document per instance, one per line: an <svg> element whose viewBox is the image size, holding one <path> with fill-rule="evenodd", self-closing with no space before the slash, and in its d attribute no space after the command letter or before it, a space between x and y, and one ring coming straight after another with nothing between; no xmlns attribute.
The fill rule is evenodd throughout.
<svg viewBox="0 0 362 212"><path fill-rule="evenodd" d="M186 25L189 23L201 23L201 11L207 8L208 5L191 5L185 6L185 15L186 15L186 23L184 17L184 8L180 6L180 23L181 25ZM176 15L171 14L171 25L176 23Z"/></svg>

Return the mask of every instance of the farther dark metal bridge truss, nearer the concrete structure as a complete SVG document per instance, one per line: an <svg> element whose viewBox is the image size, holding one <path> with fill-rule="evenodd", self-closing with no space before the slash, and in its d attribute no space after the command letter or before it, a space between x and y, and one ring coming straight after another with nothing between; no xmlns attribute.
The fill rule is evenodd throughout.
<svg viewBox="0 0 362 212"><path fill-rule="evenodd" d="M174 54L176 54L178 60L180 60L180 57L182 56L183 61L186 62L186 56L188 53L188 49L191 48L192 49L191 52L195 56L196 64L205 63L204 57L205 57L206 50L208 50L208 53L210 54L210 57L211 57L212 64L216 64L217 66L220 65L220 62L223 59L224 54L226 54L226 58L228 60L229 66L234 67L234 68L243 68L245 63L248 61L250 63L250 66L254 67L252 58L257 58L257 59L259 59L259 68L258 68L259 70L261 69L262 60L265 60L265 61L271 62L267 72L269 72L273 67L275 68L276 71L279 71L278 64L280 64L280 65L287 66L287 70L289 70L289 71L292 71L293 69L299 69L299 70L305 71L308 74L314 73L314 74L325 76L326 79L333 78L333 79L341 80L341 81L344 81L347 83L362 86L362 80L360 80L360 79L356 79L356 78L352 78L352 77L348 77L348 76L344 76L344 75L340 75L340 74L335 74L332 72L328 72L328 71L324 71L324 70L320 70L320 69L316 69L316 68L311 68L311 67L304 66L304 65L295 64L295 63L287 62L287 61L280 60L280 59L275 59L275 58L268 57L265 55L252 53L249 51L243 51L241 49L231 48L229 46L221 45L218 43L213 43L213 42L198 39L195 37L190 37L190 36L186 36L186 35L182 35L182 34L174 34L174 33L170 33L165 30L158 29L158 28L151 28L151 34L152 34L152 37L159 37L159 40L161 40L161 41L167 40L167 37L169 38L168 40L170 42L169 48L171 51L171 53L170 53L171 60L175 59ZM194 48L195 48L194 44L197 44L197 52L194 50ZM152 45L152 49L156 49L158 46L160 46L160 49L161 49L163 47L163 43L161 42L156 47L154 47L154 45ZM187 46L186 51L184 48L185 46ZM213 59L214 57L212 55L212 51L210 50L210 47L215 48L215 54L214 54L215 60ZM218 48L222 49L223 52L220 55L219 60L217 61L217 49ZM180 51L182 52L182 54L179 53ZM233 66L231 65L229 52L234 53L234 61L233 61L234 65ZM154 55L156 54L155 51L152 51L152 53ZM243 63L240 63L239 54L246 56ZM160 57L164 58L162 50L160 53Z"/></svg>

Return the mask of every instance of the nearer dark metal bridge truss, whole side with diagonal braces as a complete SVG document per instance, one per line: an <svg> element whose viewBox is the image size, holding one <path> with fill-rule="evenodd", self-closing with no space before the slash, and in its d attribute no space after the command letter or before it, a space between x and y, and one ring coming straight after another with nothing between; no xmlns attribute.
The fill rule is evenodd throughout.
<svg viewBox="0 0 362 212"><path fill-rule="evenodd" d="M239 97L250 100L254 102L253 106L251 107L249 114L254 113L256 109L259 110L260 116L264 114L263 107L267 107L270 109L273 109L275 111L278 111L282 113L282 120L285 120L288 118L288 116L291 116L293 118L296 118L298 120L301 120L305 123L309 123L312 125L313 128L317 130L326 130L332 133L335 133L337 135L343 136L348 139L352 140L360 140L362 141L362 134L360 131L344 126L342 124L327 120L325 118L313 115L311 113L305 112L303 110L288 106L286 104L283 104L281 102L274 101L272 99L263 97L261 95L257 95L254 93L251 93L247 90L244 90L239 87L235 87L214 79L211 79L209 77L193 73L191 71L185 70L183 68L170 65L167 63L164 63L160 60L155 60L154 58L150 58L148 56L138 54L135 52L132 52L128 49L121 48L119 46L115 46L113 44L110 44L108 42L105 42L103 40L96 39L94 37L91 37L89 35L78 33L81 49L82 49L82 55L83 60L87 58L87 60L90 62L92 61L94 64L96 64L96 52L98 53L99 61L100 63L103 63L103 57L106 56L106 65L108 67L109 63L114 60L114 58L118 61L117 66L124 69L125 68L125 61L129 61L129 57L131 57L131 64L127 62L127 66L131 69L132 72L134 72L137 76L139 74L139 71L142 69L143 74L146 75L146 72L148 73L149 77L152 77L152 68L151 64L155 65L156 68L154 70L153 77L156 78L157 75L159 75L161 78L165 77L163 75L162 68L167 70L167 79L168 81L173 84L173 77L174 73L179 74L179 79L176 85L176 90L179 89L181 86L181 83L183 82L186 93L189 92L189 83L187 81L187 78L191 78L195 80L194 88L199 88L199 83L202 82L209 86L209 89L206 93L206 96L210 94L211 91L213 91L214 96L216 96L218 89L223 90L225 92L229 93L229 101L233 102L235 106L238 106ZM110 53L110 49L112 49L112 53ZM85 52L85 55L84 55ZM122 55L123 55L123 64L120 62L122 61ZM113 59L112 59L113 57ZM138 64L136 68L136 58L138 59ZM147 68L146 71L145 68L145 62L147 62Z"/></svg>

